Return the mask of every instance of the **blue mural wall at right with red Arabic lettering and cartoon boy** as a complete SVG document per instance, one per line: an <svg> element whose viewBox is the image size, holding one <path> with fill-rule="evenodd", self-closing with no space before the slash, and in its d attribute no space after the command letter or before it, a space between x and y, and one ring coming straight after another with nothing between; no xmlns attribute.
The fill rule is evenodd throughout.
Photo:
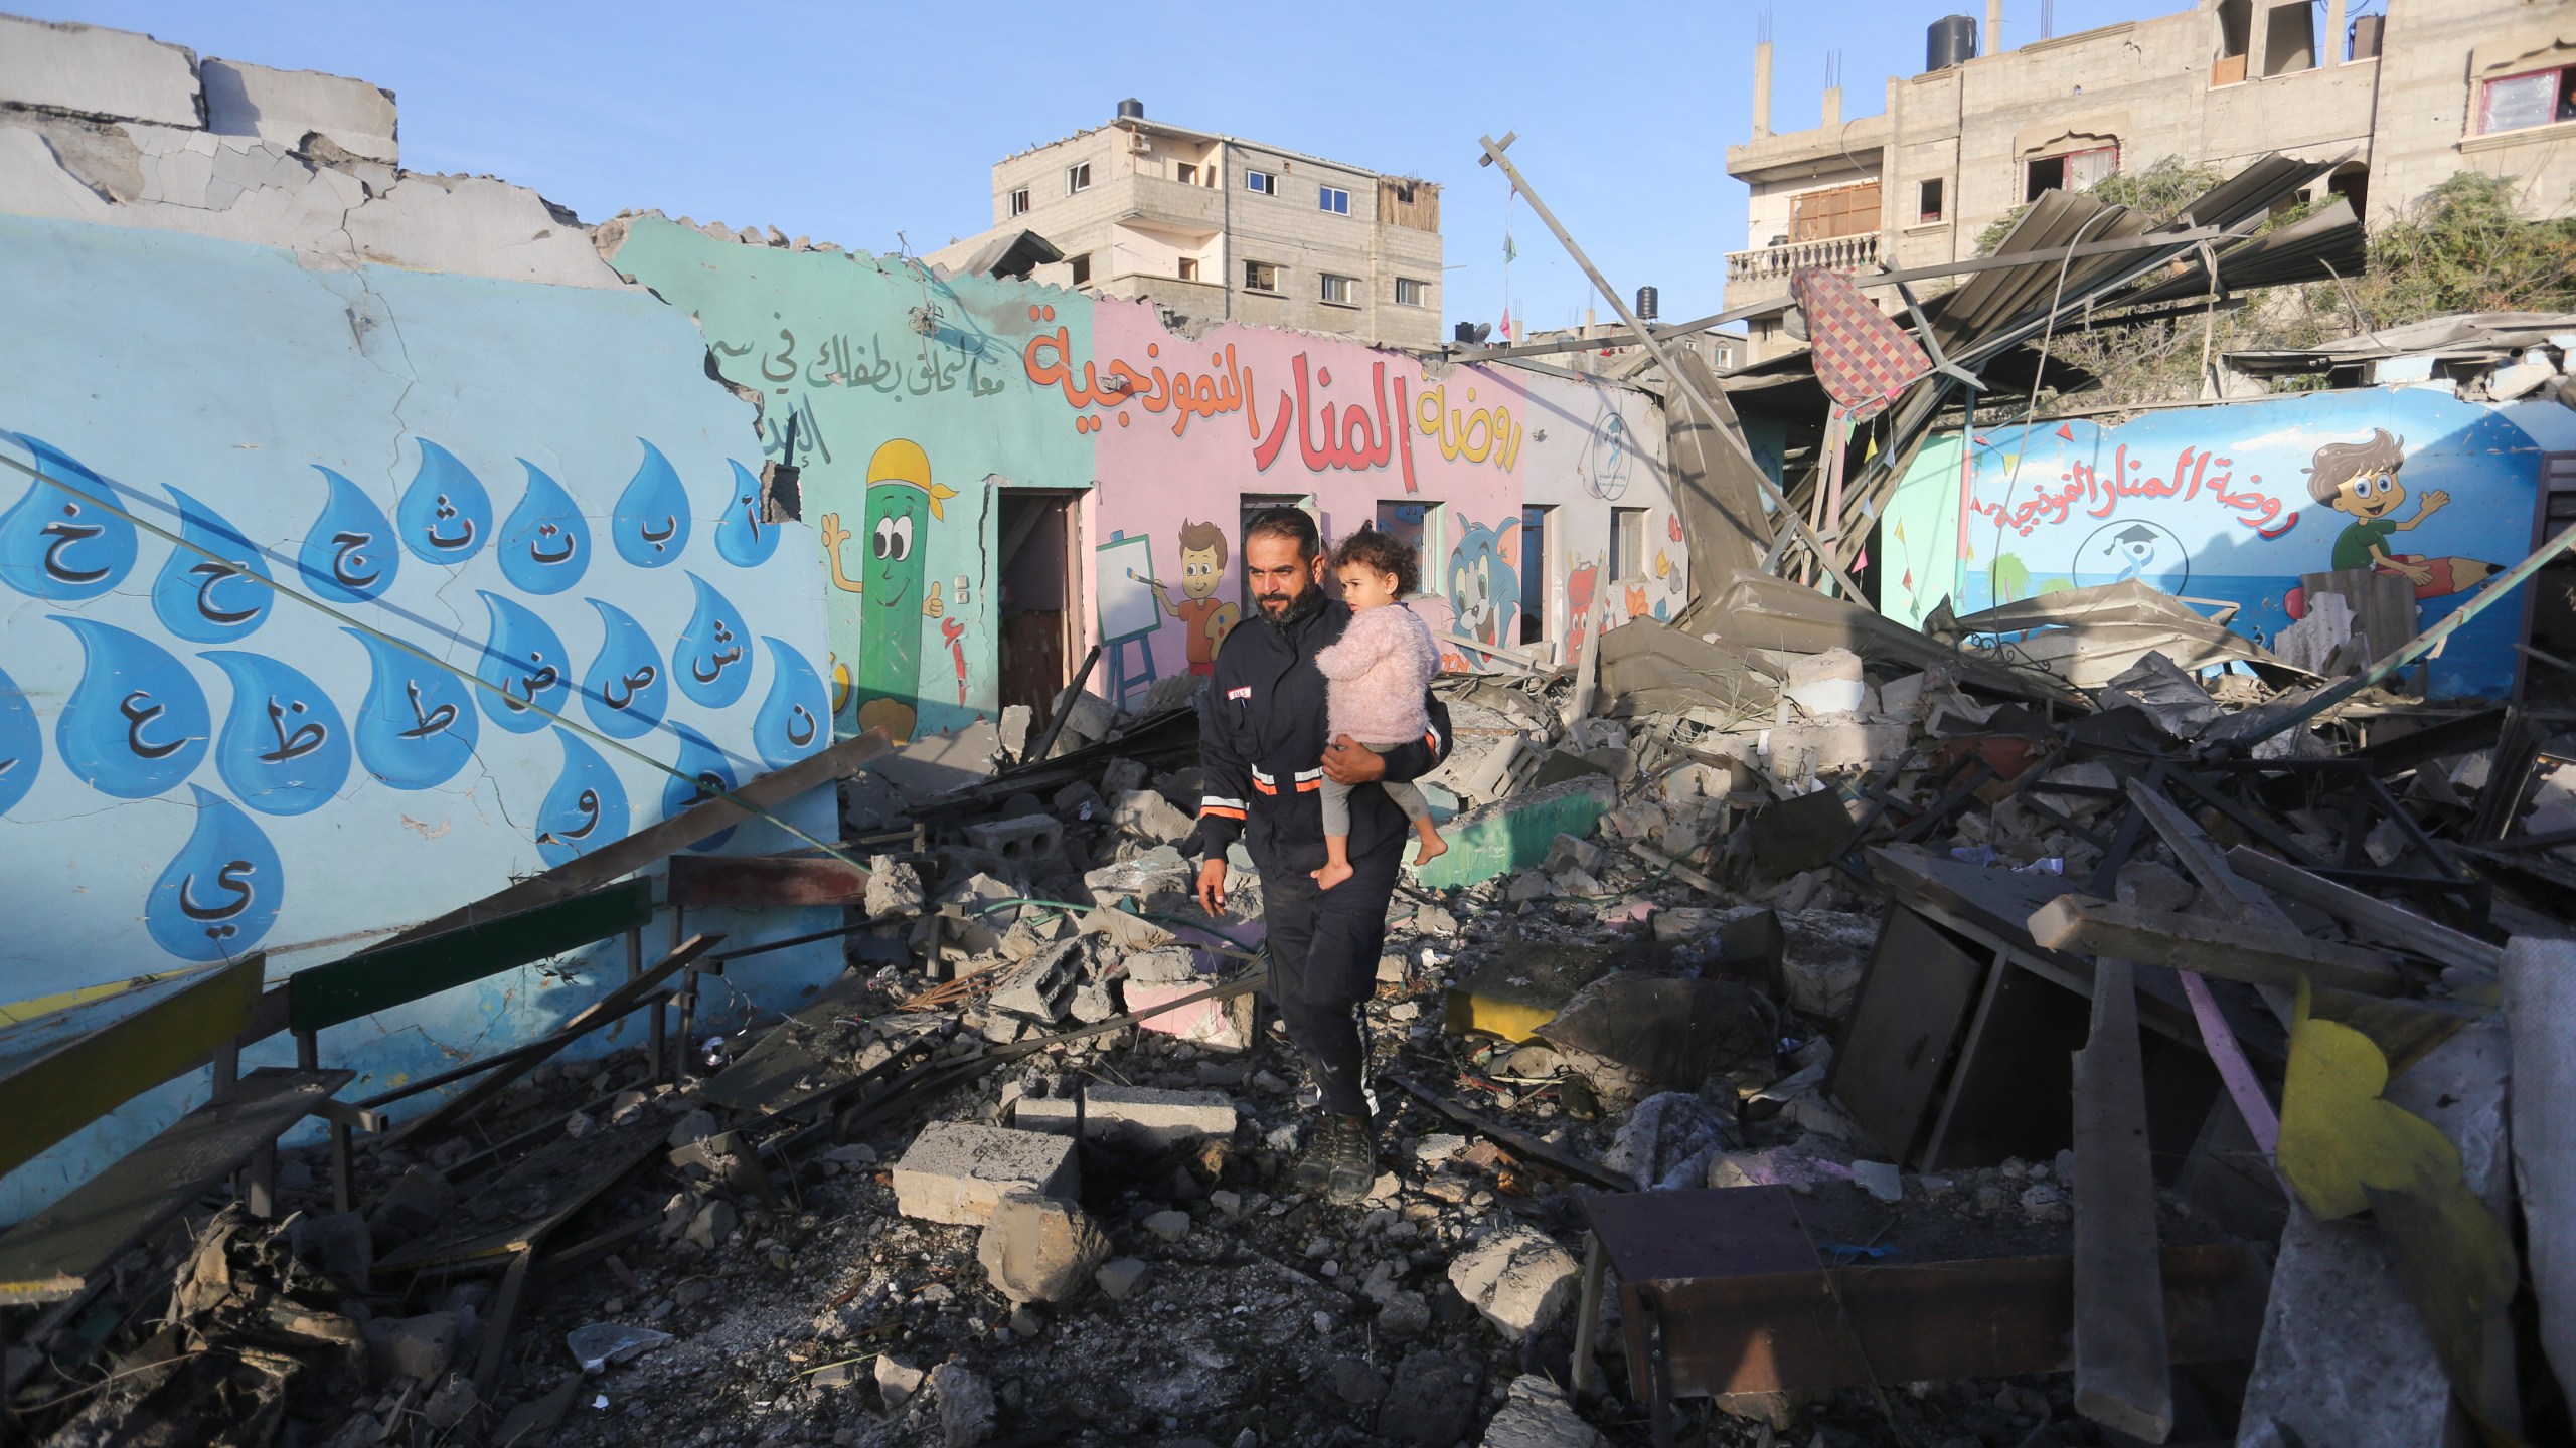
<svg viewBox="0 0 2576 1448"><path fill-rule="evenodd" d="M2318 502L2311 469L2349 472L2352 448L2383 446L2380 433L2393 466L2370 472L2393 487ZM1935 438L1880 528L1880 605L1922 624L1942 598L1971 613L2141 580L2236 603L2231 629L2272 644L2306 613L2300 575L2331 572L2339 549L2349 567L2375 538L2409 569L2424 629L2532 551L2543 453L2568 448L2566 407L2463 402L2447 384L1994 428L1973 435L1965 484L1958 438ZM2519 608L2486 611L2432 660L2432 693L2509 696L2519 636Z"/></svg>

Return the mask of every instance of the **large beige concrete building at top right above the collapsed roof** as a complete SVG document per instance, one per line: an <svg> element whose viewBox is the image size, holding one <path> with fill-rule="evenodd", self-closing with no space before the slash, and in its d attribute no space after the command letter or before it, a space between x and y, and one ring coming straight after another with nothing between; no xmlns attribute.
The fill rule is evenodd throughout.
<svg viewBox="0 0 2576 1448"><path fill-rule="evenodd" d="M1886 82L1878 116L1772 134L1770 44L1754 49L1754 134L1726 147L1752 188L1726 307L1754 361L1783 335L1788 278L1965 260L1978 232L2048 188L2084 188L2161 157L2236 170L2264 152L2349 160L2324 183L2380 227L2460 170L2522 183L2530 216L2576 206L2576 8L2561 0L2197 0L2190 10L1984 52L1965 15L1937 21L1927 70Z"/></svg>

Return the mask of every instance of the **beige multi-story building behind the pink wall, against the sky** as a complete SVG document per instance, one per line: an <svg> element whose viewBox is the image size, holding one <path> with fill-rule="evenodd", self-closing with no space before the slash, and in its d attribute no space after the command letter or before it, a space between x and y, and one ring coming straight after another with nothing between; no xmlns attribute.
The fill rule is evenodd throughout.
<svg viewBox="0 0 2576 1448"><path fill-rule="evenodd" d="M992 229L933 252L956 265L1036 232L1064 260L1038 281L1146 296L1177 317L1440 345L1440 188L1285 147L1118 119L992 167Z"/></svg>

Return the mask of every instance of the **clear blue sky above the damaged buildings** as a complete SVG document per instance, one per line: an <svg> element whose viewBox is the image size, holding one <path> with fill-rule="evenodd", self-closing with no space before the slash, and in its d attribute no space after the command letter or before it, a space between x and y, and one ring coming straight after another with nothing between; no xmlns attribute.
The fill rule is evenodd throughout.
<svg viewBox="0 0 2576 1448"><path fill-rule="evenodd" d="M1922 70L1924 26L1986 10L1984 0L0 8L371 80L402 100L412 170L500 175L585 222L662 209L863 250L896 250L902 232L925 252L984 229L994 160L1095 126L1136 95L1154 119L1443 183L1453 322L1492 322L1504 304L1507 186L1476 165L1481 131L1520 131L1515 162L1615 286L1656 283L1664 317L1695 317L1721 307L1723 252L1744 245L1744 186L1726 175L1723 147L1752 131L1762 10L1772 10L1783 131L1816 124L1832 52L1842 52L1844 113L1875 113L1888 75ZM2056 0L2056 33L2184 8ZM2004 44L2038 33L2040 3L2007 0ZM1582 273L1525 206L1512 234L1515 314L1579 322Z"/></svg>

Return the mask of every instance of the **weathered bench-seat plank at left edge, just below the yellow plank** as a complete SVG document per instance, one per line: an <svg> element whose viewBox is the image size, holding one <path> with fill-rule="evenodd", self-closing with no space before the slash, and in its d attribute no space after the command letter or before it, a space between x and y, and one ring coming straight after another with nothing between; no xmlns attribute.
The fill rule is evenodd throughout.
<svg viewBox="0 0 2576 1448"><path fill-rule="evenodd" d="M67 1299L214 1190L252 1152L358 1072L245 1072L232 1098L180 1116L54 1206L0 1237L0 1306Z"/></svg>

